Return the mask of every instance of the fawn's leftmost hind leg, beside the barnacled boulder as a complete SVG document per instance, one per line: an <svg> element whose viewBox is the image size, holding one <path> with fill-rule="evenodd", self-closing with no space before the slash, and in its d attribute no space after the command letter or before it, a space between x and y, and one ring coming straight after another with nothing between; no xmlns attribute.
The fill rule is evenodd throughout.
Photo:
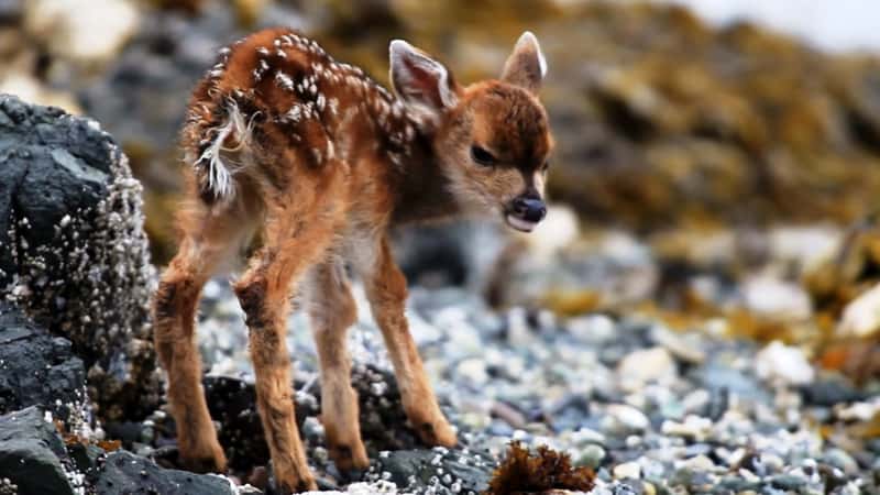
<svg viewBox="0 0 880 495"><path fill-rule="evenodd" d="M185 237L153 300L153 338L168 373L168 404L177 424L182 461L193 471L222 472L227 461L201 387L195 320L201 287L240 246L245 219L237 218L234 211L217 215L201 205L182 211Z"/></svg>

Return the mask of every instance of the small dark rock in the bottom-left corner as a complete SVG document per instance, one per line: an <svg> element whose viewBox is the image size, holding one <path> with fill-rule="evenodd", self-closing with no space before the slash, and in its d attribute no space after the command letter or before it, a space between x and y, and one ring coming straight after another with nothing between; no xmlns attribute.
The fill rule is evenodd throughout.
<svg viewBox="0 0 880 495"><path fill-rule="evenodd" d="M29 407L0 416L0 473L20 495L72 494L62 460L64 442L43 410Z"/></svg>

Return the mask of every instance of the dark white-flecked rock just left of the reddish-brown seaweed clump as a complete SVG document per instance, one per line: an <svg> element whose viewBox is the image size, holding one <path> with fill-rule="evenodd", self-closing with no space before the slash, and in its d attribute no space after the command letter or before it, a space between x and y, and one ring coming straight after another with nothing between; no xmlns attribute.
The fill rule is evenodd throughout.
<svg viewBox="0 0 880 495"><path fill-rule="evenodd" d="M391 474L404 492L422 493L433 487L438 494L482 493L495 469L495 461L465 450L399 450L382 454L372 472Z"/></svg>

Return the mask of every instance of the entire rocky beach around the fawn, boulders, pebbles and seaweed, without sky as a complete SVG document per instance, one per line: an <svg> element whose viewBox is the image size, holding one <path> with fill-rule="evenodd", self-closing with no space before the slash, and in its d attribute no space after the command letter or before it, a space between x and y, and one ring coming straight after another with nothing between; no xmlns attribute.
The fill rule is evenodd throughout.
<svg viewBox="0 0 880 495"><path fill-rule="evenodd" d="M411 36L465 80L528 26L556 70L548 220L395 235L455 448L407 424L355 282L371 466L340 472L307 318L290 317L321 493L880 493L880 59L647 3L100 3L118 22L98 42L84 4L0 1L0 40L32 42L0 42L0 92L19 95L0 95L1 495L276 493L230 278L198 315L227 473L182 468L147 311L174 252L187 94L218 46L270 24L375 75L386 38Z"/></svg>

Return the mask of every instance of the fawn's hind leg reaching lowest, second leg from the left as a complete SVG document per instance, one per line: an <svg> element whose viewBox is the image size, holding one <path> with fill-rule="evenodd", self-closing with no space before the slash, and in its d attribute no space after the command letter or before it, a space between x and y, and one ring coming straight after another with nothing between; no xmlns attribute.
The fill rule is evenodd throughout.
<svg viewBox="0 0 880 495"><path fill-rule="evenodd" d="M289 298L296 280L321 261L340 217L332 204L338 195L331 185L324 184L327 189L314 184L302 186L288 191L286 197L292 199L285 204L267 205L265 244L234 286L249 329L257 411L275 479L284 493L316 488L294 415L290 358L285 342Z"/></svg>

